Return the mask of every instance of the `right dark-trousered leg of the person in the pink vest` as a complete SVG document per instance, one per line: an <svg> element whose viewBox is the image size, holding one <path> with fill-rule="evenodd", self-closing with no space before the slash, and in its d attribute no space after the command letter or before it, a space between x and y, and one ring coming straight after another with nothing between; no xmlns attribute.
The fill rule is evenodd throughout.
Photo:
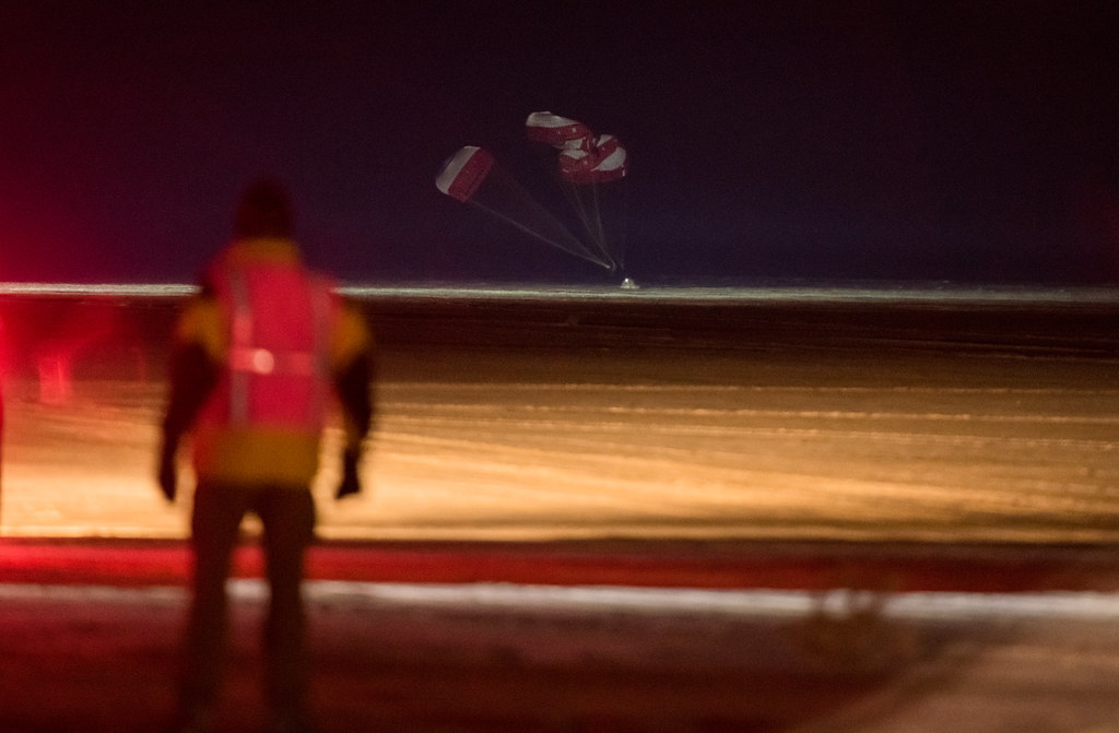
<svg viewBox="0 0 1119 733"><path fill-rule="evenodd" d="M270 589L265 693L274 720L298 730L307 695L303 557L314 534L314 501L307 489L276 488L262 494L255 508L264 525Z"/></svg>

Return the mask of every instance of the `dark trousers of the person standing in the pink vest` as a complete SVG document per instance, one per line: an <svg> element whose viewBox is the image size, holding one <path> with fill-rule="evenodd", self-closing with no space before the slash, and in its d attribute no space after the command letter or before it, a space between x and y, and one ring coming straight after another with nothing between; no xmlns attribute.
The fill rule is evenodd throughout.
<svg viewBox="0 0 1119 733"><path fill-rule="evenodd" d="M191 516L194 584L184 650L181 704L210 707L220 685L226 641L226 579L245 514L264 527L270 601L264 627L265 694L273 712L302 709L307 689L303 555L314 533L307 488L199 482Z"/></svg>

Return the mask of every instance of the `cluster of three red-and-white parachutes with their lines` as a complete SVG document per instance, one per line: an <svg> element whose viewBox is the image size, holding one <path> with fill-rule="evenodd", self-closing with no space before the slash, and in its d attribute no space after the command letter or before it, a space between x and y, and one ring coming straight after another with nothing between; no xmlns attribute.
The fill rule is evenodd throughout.
<svg viewBox="0 0 1119 733"><path fill-rule="evenodd" d="M585 241L477 145L446 159L435 177L436 188L611 272L623 269L624 192L618 181L629 172L629 157L621 141L611 134L596 135L582 122L551 112L532 113L525 129L529 141L558 151L552 165L554 178L579 217Z"/></svg>

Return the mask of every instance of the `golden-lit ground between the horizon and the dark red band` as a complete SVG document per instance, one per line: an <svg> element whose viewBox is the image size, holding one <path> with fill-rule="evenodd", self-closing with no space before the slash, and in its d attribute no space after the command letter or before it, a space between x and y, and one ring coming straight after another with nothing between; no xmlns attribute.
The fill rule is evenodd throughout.
<svg viewBox="0 0 1119 733"><path fill-rule="evenodd" d="M323 535L1119 537L1119 341L1096 291L689 307L639 292L645 306L370 301L367 492L323 500ZM167 508L151 480L166 331L137 326L142 310L30 313L54 322L6 385L3 535L182 535L187 502ZM59 379L48 357L75 340Z"/></svg>

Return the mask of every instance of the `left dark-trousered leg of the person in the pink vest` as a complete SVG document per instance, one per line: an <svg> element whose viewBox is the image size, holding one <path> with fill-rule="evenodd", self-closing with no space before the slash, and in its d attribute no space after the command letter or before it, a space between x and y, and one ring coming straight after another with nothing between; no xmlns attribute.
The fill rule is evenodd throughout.
<svg viewBox="0 0 1119 733"><path fill-rule="evenodd" d="M247 497L239 487L203 483L195 491L192 595L179 693L186 717L208 714L217 695L227 622L225 581Z"/></svg>

